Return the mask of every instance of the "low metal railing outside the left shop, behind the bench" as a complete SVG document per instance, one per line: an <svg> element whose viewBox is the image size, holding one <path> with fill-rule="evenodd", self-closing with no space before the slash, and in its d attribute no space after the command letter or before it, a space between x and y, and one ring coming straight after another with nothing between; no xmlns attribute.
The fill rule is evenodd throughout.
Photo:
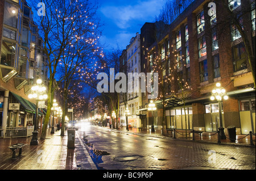
<svg viewBox="0 0 256 181"><path fill-rule="evenodd" d="M32 136L34 127L0 127L0 137L17 138Z"/></svg>

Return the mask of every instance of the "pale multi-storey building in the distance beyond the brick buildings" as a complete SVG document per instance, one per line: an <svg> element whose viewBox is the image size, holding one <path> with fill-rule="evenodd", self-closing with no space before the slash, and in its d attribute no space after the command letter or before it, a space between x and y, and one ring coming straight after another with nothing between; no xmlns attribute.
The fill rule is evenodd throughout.
<svg viewBox="0 0 256 181"><path fill-rule="evenodd" d="M136 36L131 38L130 44L123 50L120 64L121 67L123 66L123 69L126 69L123 72L126 73L127 77L127 92L124 93L125 95L122 95L126 96L126 98L121 98L122 103L120 105L121 125L126 125L127 112L127 123L131 127L138 128L141 127L141 119L138 115L139 107L142 105L141 79L134 81L134 76L129 76L129 74L135 75L141 73L141 35L139 33L136 33ZM126 99L126 108L123 99Z"/></svg>

